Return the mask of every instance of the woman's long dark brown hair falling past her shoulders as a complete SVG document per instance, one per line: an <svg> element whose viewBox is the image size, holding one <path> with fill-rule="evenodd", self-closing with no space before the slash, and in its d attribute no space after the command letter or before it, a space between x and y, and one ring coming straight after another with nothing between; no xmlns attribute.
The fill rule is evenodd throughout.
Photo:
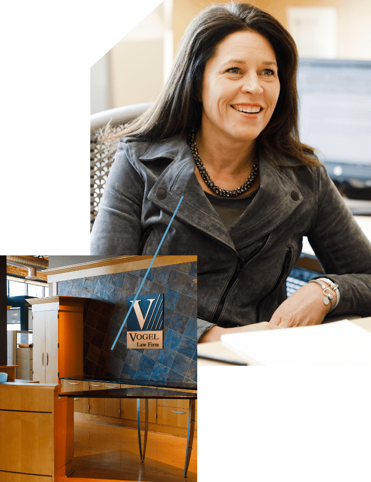
<svg viewBox="0 0 371 482"><path fill-rule="evenodd" d="M108 122L98 131L100 134L96 133L99 143L124 136L146 137L154 141L173 139L187 135L192 126L198 128L202 114L198 95L206 62L216 55L219 44L229 34L240 31L255 31L268 39L278 65L280 94L268 125L257 138L260 150L278 169L283 163L291 165L287 158L304 166L320 165L317 159L308 155L313 154L314 149L299 139L298 52L293 38L269 13L249 3L233 1L212 4L192 19L179 43L168 80L155 102L119 132L110 135Z"/></svg>

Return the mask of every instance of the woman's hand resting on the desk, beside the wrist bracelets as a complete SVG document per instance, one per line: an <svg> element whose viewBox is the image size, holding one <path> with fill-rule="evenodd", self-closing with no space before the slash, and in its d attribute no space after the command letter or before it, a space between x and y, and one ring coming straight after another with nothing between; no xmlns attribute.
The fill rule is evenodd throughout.
<svg viewBox="0 0 371 482"><path fill-rule="evenodd" d="M336 293L332 289L330 291L336 303ZM308 283L281 303L269 323L280 328L320 325L331 309L331 302L325 305L323 297L323 290L317 283Z"/></svg>

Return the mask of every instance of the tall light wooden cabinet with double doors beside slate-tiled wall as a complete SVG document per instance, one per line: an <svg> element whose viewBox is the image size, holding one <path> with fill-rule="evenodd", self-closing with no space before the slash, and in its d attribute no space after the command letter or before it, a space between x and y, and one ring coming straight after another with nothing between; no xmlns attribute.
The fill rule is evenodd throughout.
<svg viewBox="0 0 371 482"><path fill-rule="evenodd" d="M85 298L29 298L33 321L33 380L60 383L59 377L82 375Z"/></svg>

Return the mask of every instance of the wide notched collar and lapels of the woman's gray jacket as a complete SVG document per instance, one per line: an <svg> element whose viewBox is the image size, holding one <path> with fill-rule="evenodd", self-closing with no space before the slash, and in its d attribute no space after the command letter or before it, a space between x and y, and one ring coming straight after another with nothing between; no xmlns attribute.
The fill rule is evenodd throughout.
<svg viewBox="0 0 371 482"><path fill-rule="evenodd" d="M130 144L129 148L139 145ZM196 178L196 164L186 137L151 142L149 147L146 143L140 144L141 152L136 152L140 161L172 160L149 191L147 199L174 213L181 196L184 196L176 216L234 251L269 234L303 202L298 183L285 174L286 169L278 170L267 162L264 155L260 155L260 189L242 216L227 231ZM285 166L283 159L278 159L278 162ZM295 164L300 165L298 162ZM157 197L159 189L165 190L165 199ZM296 201L291 197L293 191L299 195Z"/></svg>

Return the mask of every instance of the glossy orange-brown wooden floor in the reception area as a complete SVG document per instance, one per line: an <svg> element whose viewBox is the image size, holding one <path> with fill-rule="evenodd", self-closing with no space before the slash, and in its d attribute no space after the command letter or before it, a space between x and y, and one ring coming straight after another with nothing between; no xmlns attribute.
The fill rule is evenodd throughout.
<svg viewBox="0 0 371 482"><path fill-rule="evenodd" d="M148 432L142 462L137 430L78 419L74 422L74 472L65 482L197 481L197 440L193 440L185 479L186 439Z"/></svg>

